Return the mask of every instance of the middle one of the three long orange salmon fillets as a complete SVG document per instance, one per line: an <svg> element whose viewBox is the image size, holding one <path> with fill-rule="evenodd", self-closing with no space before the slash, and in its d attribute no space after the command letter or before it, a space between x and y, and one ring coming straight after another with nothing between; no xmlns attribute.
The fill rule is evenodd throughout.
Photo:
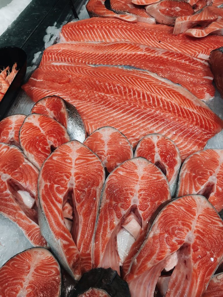
<svg viewBox="0 0 223 297"><path fill-rule="evenodd" d="M181 84L199 99L209 100L215 94L208 63L171 50L131 42L59 43L44 51L41 64L50 61L131 65Z"/></svg>

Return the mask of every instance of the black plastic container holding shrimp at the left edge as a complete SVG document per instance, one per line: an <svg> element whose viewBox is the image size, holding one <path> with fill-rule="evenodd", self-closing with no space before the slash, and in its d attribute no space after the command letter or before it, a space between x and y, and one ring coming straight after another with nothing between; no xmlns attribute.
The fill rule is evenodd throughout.
<svg viewBox="0 0 223 297"><path fill-rule="evenodd" d="M15 46L7 46L0 48L0 69L3 70L7 66L12 69L14 63L17 63L17 68L19 69L12 83L10 84L7 92L0 101L0 120L3 119L4 115L9 110L10 106L13 104L19 88L23 83L23 79L26 74L27 66L27 55L21 48Z"/></svg>

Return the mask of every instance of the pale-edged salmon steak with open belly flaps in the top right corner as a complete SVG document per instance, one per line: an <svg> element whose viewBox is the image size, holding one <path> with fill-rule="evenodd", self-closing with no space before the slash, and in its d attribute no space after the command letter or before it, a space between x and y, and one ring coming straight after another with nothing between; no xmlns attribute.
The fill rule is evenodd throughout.
<svg viewBox="0 0 223 297"><path fill-rule="evenodd" d="M194 27L200 25L198 27ZM206 6L194 15L176 19L173 34L185 32L191 37L205 37L208 34L223 34L223 9Z"/></svg>

